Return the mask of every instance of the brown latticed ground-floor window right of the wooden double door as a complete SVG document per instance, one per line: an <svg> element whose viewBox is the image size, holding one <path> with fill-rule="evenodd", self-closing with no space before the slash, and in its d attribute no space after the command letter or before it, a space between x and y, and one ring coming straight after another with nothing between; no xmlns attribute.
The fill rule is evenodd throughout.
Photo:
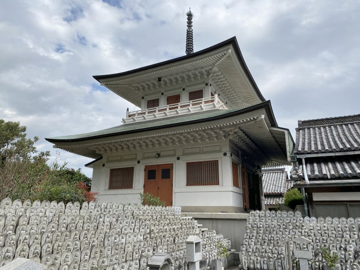
<svg viewBox="0 0 360 270"><path fill-rule="evenodd" d="M196 161L186 164L187 186L219 185L219 161Z"/></svg>

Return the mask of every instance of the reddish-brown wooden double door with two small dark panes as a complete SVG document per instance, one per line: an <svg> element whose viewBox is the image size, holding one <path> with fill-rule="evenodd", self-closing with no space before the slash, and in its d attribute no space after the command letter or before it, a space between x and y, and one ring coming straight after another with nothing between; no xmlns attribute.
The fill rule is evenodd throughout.
<svg viewBox="0 0 360 270"><path fill-rule="evenodd" d="M157 196L166 206L172 206L172 175L172 164L145 166L143 193Z"/></svg>

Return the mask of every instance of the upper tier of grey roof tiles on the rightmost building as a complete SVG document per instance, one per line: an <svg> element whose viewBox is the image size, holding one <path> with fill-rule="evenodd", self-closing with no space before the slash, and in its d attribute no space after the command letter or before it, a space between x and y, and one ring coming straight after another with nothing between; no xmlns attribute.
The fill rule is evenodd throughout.
<svg viewBox="0 0 360 270"><path fill-rule="evenodd" d="M298 121L294 154L360 150L360 114Z"/></svg>

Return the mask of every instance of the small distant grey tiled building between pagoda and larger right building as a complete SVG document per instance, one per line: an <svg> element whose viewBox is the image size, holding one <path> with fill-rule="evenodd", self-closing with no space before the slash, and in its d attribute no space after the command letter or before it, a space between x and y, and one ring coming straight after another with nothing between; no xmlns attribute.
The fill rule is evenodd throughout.
<svg viewBox="0 0 360 270"><path fill-rule="evenodd" d="M282 204L284 193L294 184L294 181L287 177L285 168L263 169L262 180L266 209L274 208L278 203Z"/></svg>

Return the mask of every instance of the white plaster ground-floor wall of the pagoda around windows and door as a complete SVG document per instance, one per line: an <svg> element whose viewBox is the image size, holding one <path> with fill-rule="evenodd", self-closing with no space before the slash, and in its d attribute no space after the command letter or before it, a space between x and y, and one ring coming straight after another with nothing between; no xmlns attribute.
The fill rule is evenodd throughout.
<svg viewBox="0 0 360 270"><path fill-rule="evenodd" d="M155 157L156 153L161 154L159 158ZM168 156L164 156L165 154ZM130 160L124 160L124 158L130 158ZM92 165L92 191L99 192L98 199L101 202L138 203L139 193L143 192L145 166L173 164L174 205L243 207L242 189L232 186L231 162L234 158L238 159L238 157L230 156L228 140L197 143L196 145L176 148L164 147L145 151L114 153ZM219 185L186 186L186 163L203 160L219 161ZM235 161L239 163L239 160ZM109 190L110 170L121 167L134 167L133 188Z"/></svg>

